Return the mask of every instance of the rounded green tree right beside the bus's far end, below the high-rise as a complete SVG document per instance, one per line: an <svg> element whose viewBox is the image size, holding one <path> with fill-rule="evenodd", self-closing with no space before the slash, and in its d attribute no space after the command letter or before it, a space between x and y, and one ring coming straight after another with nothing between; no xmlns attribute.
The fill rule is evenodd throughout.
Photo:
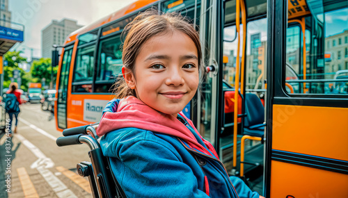
<svg viewBox="0 0 348 198"><path fill-rule="evenodd" d="M33 61L33 65L31 65L31 76L33 78L37 78L40 82L40 79L45 79L45 84L48 85L51 83L51 72L52 72L52 61L51 58L40 58L40 60ZM53 76L54 79L57 76L57 67L53 67Z"/></svg>

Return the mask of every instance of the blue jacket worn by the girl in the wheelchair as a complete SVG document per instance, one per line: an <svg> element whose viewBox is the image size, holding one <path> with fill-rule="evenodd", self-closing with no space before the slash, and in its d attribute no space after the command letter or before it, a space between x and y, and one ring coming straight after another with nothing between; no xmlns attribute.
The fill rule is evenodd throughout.
<svg viewBox="0 0 348 198"><path fill-rule="evenodd" d="M106 133L100 145L127 197L259 197L219 160L171 135L125 128Z"/></svg>

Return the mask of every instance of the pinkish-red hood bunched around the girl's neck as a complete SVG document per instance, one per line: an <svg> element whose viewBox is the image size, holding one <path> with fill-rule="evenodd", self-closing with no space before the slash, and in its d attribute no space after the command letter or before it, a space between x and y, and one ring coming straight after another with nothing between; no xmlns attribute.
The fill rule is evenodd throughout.
<svg viewBox="0 0 348 198"><path fill-rule="evenodd" d="M187 119L183 113L180 112L180 115ZM202 138L197 129L193 126L191 120L187 119L187 122L196 131L199 137ZM110 131L128 127L175 136L187 142L189 146L212 156L205 147L198 143L195 136L187 126L182 124L182 122L180 122L176 117L160 113L159 111L150 108L150 106L145 105L136 97L122 99L118 104L116 112L104 113L97 128L97 135L102 136ZM212 151L214 156L218 158L214 147L203 138L202 140L207 148Z"/></svg>

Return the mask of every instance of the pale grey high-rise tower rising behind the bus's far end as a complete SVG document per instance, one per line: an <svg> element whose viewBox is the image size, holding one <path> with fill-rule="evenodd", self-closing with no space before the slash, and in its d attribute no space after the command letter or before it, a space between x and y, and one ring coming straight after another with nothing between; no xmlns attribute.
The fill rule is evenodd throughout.
<svg viewBox="0 0 348 198"><path fill-rule="evenodd" d="M65 38L81 27L81 25L77 24L77 21L71 19L62 19L60 22L52 20L41 31L42 58L51 58L52 50L54 50L52 46L54 44L63 45Z"/></svg>

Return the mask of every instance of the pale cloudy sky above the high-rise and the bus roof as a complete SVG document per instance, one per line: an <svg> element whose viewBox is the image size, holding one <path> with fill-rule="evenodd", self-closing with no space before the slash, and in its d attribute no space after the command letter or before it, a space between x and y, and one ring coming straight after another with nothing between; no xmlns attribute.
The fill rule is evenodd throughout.
<svg viewBox="0 0 348 198"><path fill-rule="evenodd" d="M24 24L24 42L14 49L24 51L21 55L31 60L41 57L41 30L52 22L63 18L74 19L86 26L123 8L135 0L9 0L11 21Z"/></svg>

